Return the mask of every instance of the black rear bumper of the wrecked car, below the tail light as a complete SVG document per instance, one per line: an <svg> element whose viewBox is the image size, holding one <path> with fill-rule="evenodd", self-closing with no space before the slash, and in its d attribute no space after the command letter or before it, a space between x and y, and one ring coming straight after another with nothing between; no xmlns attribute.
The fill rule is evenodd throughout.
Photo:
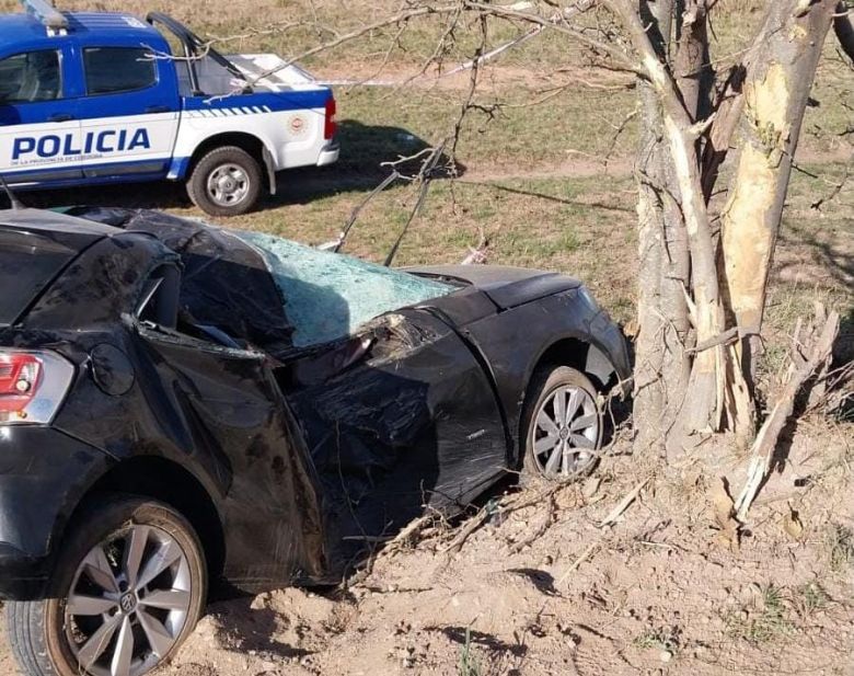
<svg viewBox="0 0 854 676"><path fill-rule="evenodd" d="M0 427L0 599L49 594L69 517L111 462L51 427Z"/></svg>

